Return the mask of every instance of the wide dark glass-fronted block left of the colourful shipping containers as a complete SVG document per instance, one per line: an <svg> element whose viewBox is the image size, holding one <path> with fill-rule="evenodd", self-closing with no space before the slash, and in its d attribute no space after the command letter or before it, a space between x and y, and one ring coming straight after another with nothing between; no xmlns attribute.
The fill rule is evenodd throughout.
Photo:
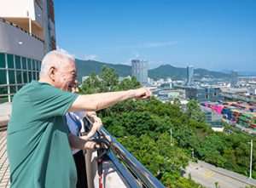
<svg viewBox="0 0 256 188"><path fill-rule="evenodd" d="M221 95L220 88L204 87L204 88L195 88L189 87L186 88L186 98L188 100L195 99L197 101L218 101L223 100Z"/></svg>

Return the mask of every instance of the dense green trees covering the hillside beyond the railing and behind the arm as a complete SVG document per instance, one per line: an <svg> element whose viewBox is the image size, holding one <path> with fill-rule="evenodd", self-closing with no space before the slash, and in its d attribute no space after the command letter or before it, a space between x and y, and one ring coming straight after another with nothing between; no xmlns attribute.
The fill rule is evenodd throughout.
<svg viewBox="0 0 256 188"><path fill-rule="evenodd" d="M80 92L93 94L141 87L136 77L119 82L117 73L106 66L99 75L91 73ZM152 97L127 100L98 114L105 128L166 186L203 187L180 175L188 165L192 148L198 159L248 175L250 145L247 142L253 138L245 134L213 132L195 100L189 101L185 113L181 111L179 100L172 105ZM253 141L253 178L256 178L256 143L255 139Z"/></svg>

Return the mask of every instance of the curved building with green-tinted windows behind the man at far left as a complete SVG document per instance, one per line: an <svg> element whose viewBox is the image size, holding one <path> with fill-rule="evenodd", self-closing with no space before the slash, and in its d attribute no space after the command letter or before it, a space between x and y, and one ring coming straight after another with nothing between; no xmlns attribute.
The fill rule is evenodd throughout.
<svg viewBox="0 0 256 188"><path fill-rule="evenodd" d="M53 49L52 0L1 1L0 103L11 102L26 83L38 80L44 54Z"/></svg>

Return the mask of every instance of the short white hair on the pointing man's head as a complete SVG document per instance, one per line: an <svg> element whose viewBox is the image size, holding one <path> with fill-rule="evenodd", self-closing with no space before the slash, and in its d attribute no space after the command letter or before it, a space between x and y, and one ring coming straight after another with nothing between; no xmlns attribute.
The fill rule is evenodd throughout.
<svg viewBox="0 0 256 188"><path fill-rule="evenodd" d="M61 66L65 66L67 62L72 60L75 61L71 54L67 54L63 51L53 50L44 56L41 65L40 77L44 77L47 75L50 66L56 66L57 68L61 68Z"/></svg>

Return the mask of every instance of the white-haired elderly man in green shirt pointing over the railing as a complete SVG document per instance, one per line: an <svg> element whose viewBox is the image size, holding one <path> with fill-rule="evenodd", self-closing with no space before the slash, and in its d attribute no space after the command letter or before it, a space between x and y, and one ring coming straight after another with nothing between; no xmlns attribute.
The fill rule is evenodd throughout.
<svg viewBox="0 0 256 188"><path fill-rule="evenodd" d="M77 174L70 146L88 149L94 143L69 134L66 112L99 111L131 98L147 99L154 89L89 95L66 92L77 83L76 76L73 58L52 51L44 57L39 81L15 94L7 136L11 187L75 187Z"/></svg>

